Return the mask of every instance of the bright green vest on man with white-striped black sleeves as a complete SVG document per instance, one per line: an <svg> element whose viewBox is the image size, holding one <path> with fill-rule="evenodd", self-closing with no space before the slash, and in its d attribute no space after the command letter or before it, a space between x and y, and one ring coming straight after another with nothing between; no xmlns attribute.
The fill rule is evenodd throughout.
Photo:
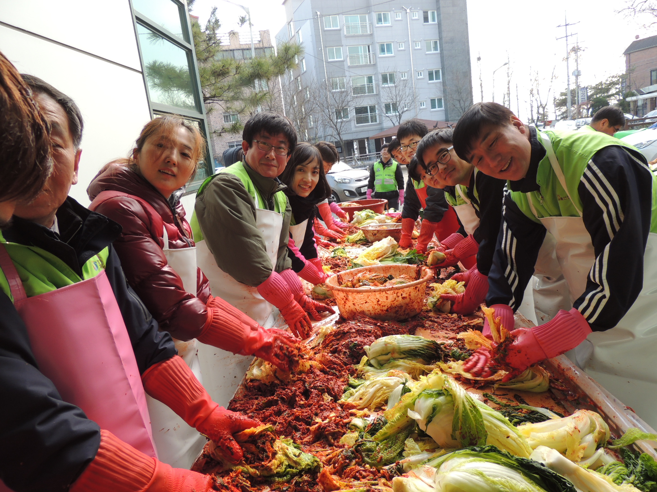
<svg viewBox="0 0 657 492"><path fill-rule="evenodd" d="M577 192L581 176L596 152L611 145L622 146L632 154L637 161L643 162L643 156L633 146L600 132L570 132L570 131L545 131L539 132L538 140L545 145L540 133L546 133L551 140L552 148L555 150L558 161L566 180L568 190ZM647 169L648 166L646 166ZM650 232L657 232L657 178L652 177L652 219L650 220ZM581 210L581 199L579 194L573 196L561 186L555 171L552 169L550 159L546 154L539 162L536 174L536 182L541 187L537 192L511 192L512 200L518 208L534 222L541 222L539 218L545 217L578 217ZM529 203L532 204L536 216L532 213Z"/></svg>

